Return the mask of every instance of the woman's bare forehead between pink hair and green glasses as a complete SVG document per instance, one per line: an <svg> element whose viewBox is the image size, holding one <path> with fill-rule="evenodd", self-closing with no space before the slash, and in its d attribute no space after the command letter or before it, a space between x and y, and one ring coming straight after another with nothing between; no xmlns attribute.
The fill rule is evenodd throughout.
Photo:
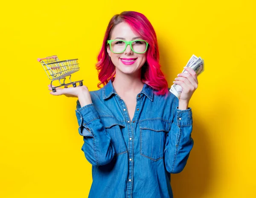
<svg viewBox="0 0 256 198"><path fill-rule="evenodd" d="M111 40L116 39L116 37L122 37L124 38L124 40L131 40L134 37L140 37L140 35L137 34L136 32L133 32L131 27L127 23L122 22L117 24L113 28L113 31L111 34Z"/></svg>

